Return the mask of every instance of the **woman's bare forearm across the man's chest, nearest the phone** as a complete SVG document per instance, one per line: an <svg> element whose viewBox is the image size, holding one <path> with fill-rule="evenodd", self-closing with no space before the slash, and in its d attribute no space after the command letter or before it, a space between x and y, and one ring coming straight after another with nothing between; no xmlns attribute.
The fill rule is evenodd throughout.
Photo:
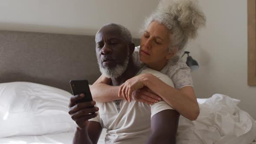
<svg viewBox="0 0 256 144"><path fill-rule="evenodd" d="M111 86L103 83L93 84L91 87L92 98L97 102L109 102L122 99L118 97L119 86Z"/></svg>

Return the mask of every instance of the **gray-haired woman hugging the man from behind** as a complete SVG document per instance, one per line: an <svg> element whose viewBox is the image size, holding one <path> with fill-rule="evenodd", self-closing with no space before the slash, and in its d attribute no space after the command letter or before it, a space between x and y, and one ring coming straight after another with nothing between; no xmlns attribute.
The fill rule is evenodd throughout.
<svg viewBox="0 0 256 144"><path fill-rule="evenodd" d="M205 22L195 0L162 0L145 21L139 52L134 53L134 58L138 65L142 63L168 75L175 88L151 74L137 75L121 86L106 85L109 79L102 75L91 87L94 100L108 102L125 98L152 104L163 98L182 116L196 120L200 109L190 68L180 54Z"/></svg>

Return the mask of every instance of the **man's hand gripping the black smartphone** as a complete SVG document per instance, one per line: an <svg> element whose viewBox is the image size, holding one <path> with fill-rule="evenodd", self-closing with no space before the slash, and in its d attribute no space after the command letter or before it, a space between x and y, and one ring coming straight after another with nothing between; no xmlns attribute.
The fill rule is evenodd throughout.
<svg viewBox="0 0 256 144"><path fill-rule="evenodd" d="M89 124L88 120L95 118L97 116L97 113L95 112L98 111L98 107L94 107L96 104L95 101L77 103L77 101L84 97L84 94L74 95L69 101L69 115L82 130L87 128Z"/></svg>

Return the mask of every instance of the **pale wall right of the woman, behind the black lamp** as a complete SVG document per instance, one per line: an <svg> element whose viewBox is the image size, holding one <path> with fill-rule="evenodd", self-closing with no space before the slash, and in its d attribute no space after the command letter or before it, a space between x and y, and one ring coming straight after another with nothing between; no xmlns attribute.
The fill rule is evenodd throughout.
<svg viewBox="0 0 256 144"><path fill-rule="evenodd" d="M199 98L215 93L240 99L256 119L256 87L247 85L247 0L200 0L207 27L187 50L199 62L192 72Z"/></svg>

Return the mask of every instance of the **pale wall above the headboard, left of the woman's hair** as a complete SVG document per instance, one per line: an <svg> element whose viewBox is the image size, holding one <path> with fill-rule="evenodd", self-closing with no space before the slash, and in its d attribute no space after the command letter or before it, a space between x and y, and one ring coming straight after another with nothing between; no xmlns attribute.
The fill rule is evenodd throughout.
<svg viewBox="0 0 256 144"><path fill-rule="evenodd" d="M0 0L0 29L95 35L105 23L119 23L139 37L158 0Z"/></svg>

